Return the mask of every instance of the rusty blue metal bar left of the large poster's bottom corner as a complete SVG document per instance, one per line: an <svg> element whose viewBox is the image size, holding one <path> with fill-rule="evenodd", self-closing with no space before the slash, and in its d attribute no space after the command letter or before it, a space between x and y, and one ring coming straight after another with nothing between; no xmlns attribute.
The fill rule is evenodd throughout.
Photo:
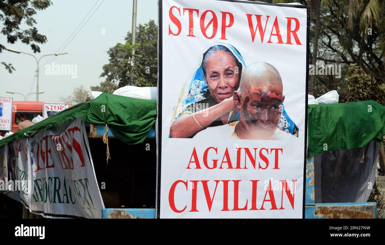
<svg viewBox="0 0 385 245"><path fill-rule="evenodd" d="M154 208L104 208L102 209L103 219L154 219Z"/></svg>

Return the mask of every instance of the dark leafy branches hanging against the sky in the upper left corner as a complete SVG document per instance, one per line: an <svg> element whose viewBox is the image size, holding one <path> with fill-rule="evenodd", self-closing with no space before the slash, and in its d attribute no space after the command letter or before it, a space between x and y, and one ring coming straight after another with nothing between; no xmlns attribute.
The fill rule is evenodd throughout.
<svg viewBox="0 0 385 245"><path fill-rule="evenodd" d="M0 25L2 26L1 34L7 37L7 42L14 44L17 40L30 45L34 53L40 53L40 47L36 44L44 44L47 37L38 33L33 26L36 20L33 15L36 10L43 10L52 4L50 0L0 0ZM25 20L29 29L21 30L19 25ZM3 52L5 46L0 44L0 53ZM15 68L10 63L1 62L9 73Z"/></svg>

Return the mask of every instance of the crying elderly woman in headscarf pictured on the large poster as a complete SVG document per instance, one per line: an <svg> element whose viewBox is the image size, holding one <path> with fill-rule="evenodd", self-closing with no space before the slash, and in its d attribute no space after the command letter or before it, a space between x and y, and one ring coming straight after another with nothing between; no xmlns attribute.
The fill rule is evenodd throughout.
<svg viewBox="0 0 385 245"><path fill-rule="evenodd" d="M240 119L233 92L239 89L246 68L242 55L232 45L220 42L210 45L201 57L174 107L170 138L192 138L203 129ZM298 137L298 127L284 106L277 128Z"/></svg>

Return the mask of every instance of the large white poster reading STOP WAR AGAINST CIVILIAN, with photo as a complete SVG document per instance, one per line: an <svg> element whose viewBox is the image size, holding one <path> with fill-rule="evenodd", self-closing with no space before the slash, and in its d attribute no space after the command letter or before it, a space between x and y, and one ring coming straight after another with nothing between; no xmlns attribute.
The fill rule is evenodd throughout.
<svg viewBox="0 0 385 245"><path fill-rule="evenodd" d="M308 18L159 1L157 217L303 217Z"/></svg>

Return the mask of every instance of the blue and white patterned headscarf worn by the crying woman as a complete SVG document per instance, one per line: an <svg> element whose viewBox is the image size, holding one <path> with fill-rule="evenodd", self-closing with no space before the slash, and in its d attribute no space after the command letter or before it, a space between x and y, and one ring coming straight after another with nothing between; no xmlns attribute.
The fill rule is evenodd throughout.
<svg viewBox="0 0 385 245"><path fill-rule="evenodd" d="M243 66L242 70L244 70L244 68L246 67L246 63L244 62L243 57L230 44L227 44L224 42L216 42L209 45L209 47L206 47L204 52L206 52L206 50L208 50L210 47L215 45L223 45L224 47L227 47L238 59L238 61L242 64ZM202 52L201 60L203 59L204 52ZM209 96L211 96L211 94L210 94L209 87L206 81L204 80L203 69L201 64L191 77L189 88L187 89L187 96L185 94L185 96L181 98L182 100L178 103L179 106L177 106L176 108L176 113L174 114L174 120L177 119L182 114L182 112L184 112L187 109L188 106L196 102L202 101L204 99L207 99ZM240 120L239 112L238 112L238 116L236 117L236 120L237 121ZM280 126L283 128L283 130L288 129L291 134L298 134L298 127L290 119L283 105L282 105L282 113L281 113L280 121L278 123L278 127Z"/></svg>

